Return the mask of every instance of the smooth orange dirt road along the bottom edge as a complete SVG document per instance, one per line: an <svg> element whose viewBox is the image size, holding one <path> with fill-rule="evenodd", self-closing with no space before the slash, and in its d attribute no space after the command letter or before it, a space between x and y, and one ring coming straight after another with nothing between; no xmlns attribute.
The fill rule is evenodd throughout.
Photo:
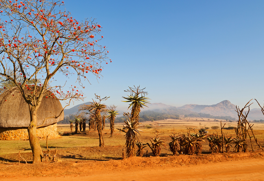
<svg viewBox="0 0 264 181"><path fill-rule="evenodd" d="M86 163L89 164L89 163ZM91 165L91 163L89 164ZM200 181L200 180L221 180L221 181L233 181L233 180L264 180L264 160L263 159L246 159L236 161L224 161L218 163L207 163L198 165L183 165L183 166L165 166L159 167L144 167L132 169L101 169L102 164L93 164L93 167L86 167L82 165L80 169L87 169L86 176L77 174L65 175L65 176L51 176L51 177L28 177L25 175L0 177L1 181L24 181L24 180L38 180L38 181L80 181L80 180L92 180L92 181Z"/></svg>

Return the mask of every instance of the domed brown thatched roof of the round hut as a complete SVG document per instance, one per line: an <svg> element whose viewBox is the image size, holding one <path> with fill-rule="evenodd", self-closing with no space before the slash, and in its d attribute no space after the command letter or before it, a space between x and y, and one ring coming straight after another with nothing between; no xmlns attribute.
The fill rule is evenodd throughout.
<svg viewBox="0 0 264 181"><path fill-rule="evenodd" d="M25 91L27 88L25 88ZM33 89L33 87L31 87ZM47 91L47 93L50 93ZM58 116L62 111L60 102L51 97L44 97L37 111L37 126L42 125L47 117ZM42 126L48 126L63 120L64 113L57 118L46 119ZM28 127L30 114L28 104L22 97L18 87L6 90L0 95L0 127Z"/></svg>

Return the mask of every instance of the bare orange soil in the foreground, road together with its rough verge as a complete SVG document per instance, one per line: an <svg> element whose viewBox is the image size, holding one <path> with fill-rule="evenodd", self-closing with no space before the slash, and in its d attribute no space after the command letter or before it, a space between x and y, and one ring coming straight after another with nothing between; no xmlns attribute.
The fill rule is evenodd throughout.
<svg viewBox="0 0 264 181"><path fill-rule="evenodd" d="M0 164L0 180L264 180L264 154L131 157L79 163Z"/></svg>

